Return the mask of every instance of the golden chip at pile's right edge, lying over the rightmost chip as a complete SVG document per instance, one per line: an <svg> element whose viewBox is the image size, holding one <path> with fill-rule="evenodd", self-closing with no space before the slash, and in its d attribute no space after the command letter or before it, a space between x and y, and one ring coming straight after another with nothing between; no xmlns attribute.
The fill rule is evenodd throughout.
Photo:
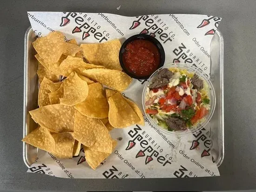
<svg viewBox="0 0 256 192"><path fill-rule="evenodd" d="M138 115L120 93L109 97L108 104L108 121L113 127L124 128L140 122Z"/></svg>

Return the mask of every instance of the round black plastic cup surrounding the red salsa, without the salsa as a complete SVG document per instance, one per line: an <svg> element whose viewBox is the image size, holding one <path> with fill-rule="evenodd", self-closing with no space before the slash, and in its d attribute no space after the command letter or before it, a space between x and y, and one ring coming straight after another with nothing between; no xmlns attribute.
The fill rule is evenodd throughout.
<svg viewBox="0 0 256 192"><path fill-rule="evenodd" d="M148 79L155 71L152 71L152 73L147 76L137 76L134 73L129 72L128 69L126 68L126 66L124 65L122 55L125 52L125 48L126 48L127 44L134 40L148 40L156 46L156 48L158 49L159 55L160 55L160 63L157 66L157 68L155 69L155 71L157 69L159 69L160 67L162 67L164 64L164 61L165 61L165 53L164 53L163 46L157 39L155 39L154 37L147 35L147 34L133 35L133 36L129 37L127 40L125 40L121 46L121 49L119 51L119 62L121 64L121 67L124 70L124 72L127 73L130 77L135 78L135 79Z"/></svg>

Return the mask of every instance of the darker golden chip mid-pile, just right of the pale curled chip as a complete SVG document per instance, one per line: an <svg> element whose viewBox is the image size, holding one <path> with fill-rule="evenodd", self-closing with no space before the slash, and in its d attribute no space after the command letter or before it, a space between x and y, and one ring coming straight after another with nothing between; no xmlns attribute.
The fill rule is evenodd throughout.
<svg viewBox="0 0 256 192"><path fill-rule="evenodd" d="M88 86L88 97L74 108L85 116L103 119L108 117L108 101L104 95L100 83L93 83Z"/></svg>

